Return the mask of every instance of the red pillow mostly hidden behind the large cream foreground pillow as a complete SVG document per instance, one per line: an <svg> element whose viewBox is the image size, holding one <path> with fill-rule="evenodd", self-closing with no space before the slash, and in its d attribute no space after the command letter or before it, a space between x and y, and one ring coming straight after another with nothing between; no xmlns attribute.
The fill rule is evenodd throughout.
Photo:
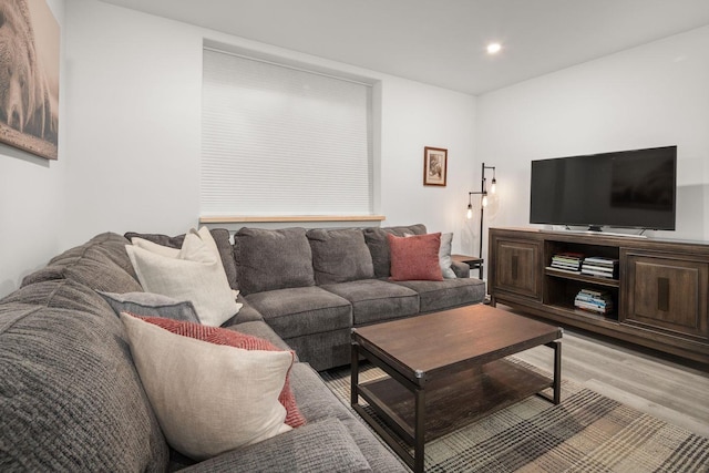
<svg viewBox="0 0 709 473"><path fill-rule="evenodd" d="M284 351L268 340L240 333L235 330L227 330L219 327L203 326L199 323L186 322L182 320L165 319L162 317L143 317L131 313L134 317L156 325L172 333L183 337L196 338L214 345L225 345L227 347L242 348L244 350ZM278 395L278 401L286 408L286 423L291 428L305 425L306 419L298 410L296 397L290 390L290 370L286 374L286 383Z"/></svg>

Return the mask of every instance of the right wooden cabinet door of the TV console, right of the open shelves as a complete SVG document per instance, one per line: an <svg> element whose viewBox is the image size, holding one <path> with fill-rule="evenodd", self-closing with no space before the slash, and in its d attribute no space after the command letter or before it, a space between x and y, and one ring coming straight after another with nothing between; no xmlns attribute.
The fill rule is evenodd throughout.
<svg viewBox="0 0 709 473"><path fill-rule="evenodd" d="M709 338L709 264L645 253L626 254L623 322Z"/></svg>

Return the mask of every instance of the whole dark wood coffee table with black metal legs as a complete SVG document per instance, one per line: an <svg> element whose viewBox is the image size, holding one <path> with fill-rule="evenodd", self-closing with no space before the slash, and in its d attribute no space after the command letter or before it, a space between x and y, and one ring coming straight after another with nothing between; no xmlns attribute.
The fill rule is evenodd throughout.
<svg viewBox="0 0 709 473"><path fill-rule="evenodd" d="M352 329L352 408L422 472L425 442L533 394L557 404L562 335L558 327L484 305ZM540 345L554 349L553 379L504 360ZM360 356L389 377L360 383ZM542 392L547 388L553 395Z"/></svg>

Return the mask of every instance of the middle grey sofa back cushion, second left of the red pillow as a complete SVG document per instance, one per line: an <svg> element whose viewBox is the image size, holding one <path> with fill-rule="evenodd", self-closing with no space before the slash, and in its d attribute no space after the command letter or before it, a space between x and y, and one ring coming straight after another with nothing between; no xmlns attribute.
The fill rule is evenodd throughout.
<svg viewBox="0 0 709 473"><path fill-rule="evenodd" d="M372 256L359 228L314 228L307 233L318 285L374 277Z"/></svg>

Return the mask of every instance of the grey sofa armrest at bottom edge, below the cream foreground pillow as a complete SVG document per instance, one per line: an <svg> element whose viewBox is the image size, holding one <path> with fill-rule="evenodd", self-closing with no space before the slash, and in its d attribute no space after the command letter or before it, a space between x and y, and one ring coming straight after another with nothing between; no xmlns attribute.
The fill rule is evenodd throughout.
<svg viewBox="0 0 709 473"><path fill-rule="evenodd" d="M254 445L226 452L184 472L371 472L347 429L336 418L308 423Z"/></svg>

